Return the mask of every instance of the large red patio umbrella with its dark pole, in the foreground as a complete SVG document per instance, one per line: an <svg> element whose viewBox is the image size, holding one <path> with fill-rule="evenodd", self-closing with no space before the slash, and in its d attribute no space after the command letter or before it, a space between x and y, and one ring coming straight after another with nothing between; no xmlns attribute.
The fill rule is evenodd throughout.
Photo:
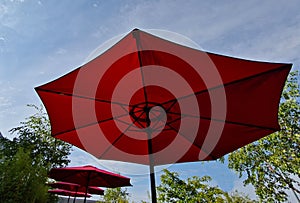
<svg viewBox="0 0 300 203"><path fill-rule="evenodd" d="M133 30L82 67L36 88L52 136L99 159L150 166L214 160L279 130L291 64L185 47Z"/></svg>

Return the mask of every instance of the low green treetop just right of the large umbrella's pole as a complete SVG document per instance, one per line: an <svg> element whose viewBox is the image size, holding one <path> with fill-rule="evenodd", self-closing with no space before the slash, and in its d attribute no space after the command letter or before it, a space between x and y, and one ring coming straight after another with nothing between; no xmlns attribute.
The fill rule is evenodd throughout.
<svg viewBox="0 0 300 203"><path fill-rule="evenodd" d="M159 202L254 202L241 194L230 195L219 187L208 185L208 182L211 181L209 176L193 176L182 180L178 173L164 169L164 174L160 179L161 184L157 187Z"/></svg>

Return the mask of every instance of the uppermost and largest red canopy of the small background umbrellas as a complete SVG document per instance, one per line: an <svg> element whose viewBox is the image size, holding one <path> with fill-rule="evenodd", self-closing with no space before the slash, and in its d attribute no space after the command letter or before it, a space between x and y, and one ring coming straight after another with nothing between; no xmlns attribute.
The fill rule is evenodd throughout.
<svg viewBox="0 0 300 203"><path fill-rule="evenodd" d="M94 166L52 168L49 177L55 180L88 186L122 187L131 186L130 178L98 169ZM91 189L95 191L95 189ZM91 191L88 189L88 191Z"/></svg>

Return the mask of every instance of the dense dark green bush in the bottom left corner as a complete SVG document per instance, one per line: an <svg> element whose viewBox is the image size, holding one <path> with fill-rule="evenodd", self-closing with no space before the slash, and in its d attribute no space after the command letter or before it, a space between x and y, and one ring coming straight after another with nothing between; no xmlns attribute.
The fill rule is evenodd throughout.
<svg viewBox="0 0 300 203"><path fill-rule="evenodd" d="M30 154L19 148L12 159L0 162L0 202L47 202L46 179L47 171L40 162L33 162Z"/></svg>

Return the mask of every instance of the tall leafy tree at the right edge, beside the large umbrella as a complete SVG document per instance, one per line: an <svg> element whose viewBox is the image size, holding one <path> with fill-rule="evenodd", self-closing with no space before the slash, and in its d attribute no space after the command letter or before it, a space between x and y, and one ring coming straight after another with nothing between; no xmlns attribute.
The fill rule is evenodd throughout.
<svg viewBox="0 0 300 203"><path fill-rule="evenodd" d="M283 202L290 190L300 191L300 89L299 73L289 75L279 106L281 131L229 155L229 168L246 175L262 202ZM299 199L298 199L299 200ZM299 200L300 201L300 200Z"/></svg>

